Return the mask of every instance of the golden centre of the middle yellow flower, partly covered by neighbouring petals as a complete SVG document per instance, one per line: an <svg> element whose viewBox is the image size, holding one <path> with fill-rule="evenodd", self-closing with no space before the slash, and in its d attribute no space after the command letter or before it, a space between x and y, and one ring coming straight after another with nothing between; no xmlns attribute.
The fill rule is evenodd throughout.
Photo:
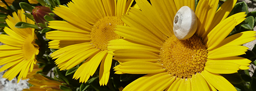
<svg viewBox="0 0 256 91"><path fill-rule="evenodd" d="M121 38L114 30L116 25L123 25L120 18L116 16L106 16L99 19L92 27L91 42L98 49L106 50L108 41Z"/></svg>

